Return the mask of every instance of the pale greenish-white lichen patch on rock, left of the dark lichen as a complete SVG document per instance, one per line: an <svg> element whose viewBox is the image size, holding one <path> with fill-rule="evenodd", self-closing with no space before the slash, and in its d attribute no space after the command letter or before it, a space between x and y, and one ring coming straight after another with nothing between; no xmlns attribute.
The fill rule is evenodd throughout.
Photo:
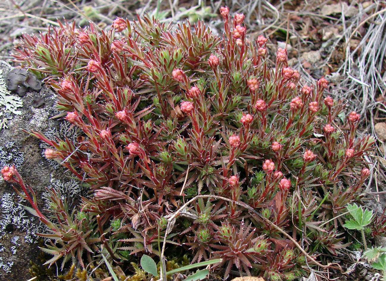
<svg viewBox="0 0 386 281"><path fill-rule="evenodd" d="M0 69L0 131L8 128L8 122L12 119L12 114L21 115L18 109L23 106L20 97L12 95L7 89L3 78L3 70Z"/></svg>

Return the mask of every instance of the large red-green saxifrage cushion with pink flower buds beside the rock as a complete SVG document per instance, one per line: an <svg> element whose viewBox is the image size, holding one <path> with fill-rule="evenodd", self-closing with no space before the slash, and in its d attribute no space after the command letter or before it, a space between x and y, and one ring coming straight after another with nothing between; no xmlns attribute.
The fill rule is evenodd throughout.
<svg viewBox="0 0 386 281"><path fill-rule="evenodd" d="M282 48L270 67L267 39L249 41L244 15L220 13L222 37L201 21L171 29L147 17L117 18L107 32L66 23L24 35L16 60L45 78L83 132L76 142L30 134L90 189L71 213L51 191L46 218L17 171L2 170L51 229L49 263L154 257L168 234L167 247L192 262L222 258L224 278L233 268L293 280L310 259L283 232L314 256L352 241L341 218L348 203L363 204L373 138L357 137L356 112L337 118L344 104L323 96L325 78L300 85ZM232 201L199 199L166 231L168 215L197 194Z"/></svg>

